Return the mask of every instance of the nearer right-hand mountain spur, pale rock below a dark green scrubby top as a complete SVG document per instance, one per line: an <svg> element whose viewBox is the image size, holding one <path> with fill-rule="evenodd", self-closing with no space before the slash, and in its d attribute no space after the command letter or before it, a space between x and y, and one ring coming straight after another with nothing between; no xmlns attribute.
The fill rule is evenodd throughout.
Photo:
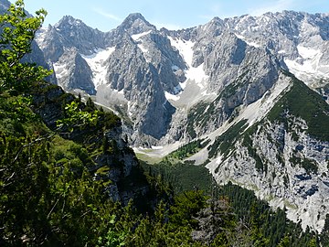
<svg viewBox="0 0 329 247"><path fill-rule="evenodd" d="M217 137L207 149L207 167L219 184L252 189L271 206L285 207L304 229L321 232L329 212L329 133L318 130L329 121L329 107L301 81L290 83L261 121L241 120ZM301 111L306 103L311 108Z"/></svg>

